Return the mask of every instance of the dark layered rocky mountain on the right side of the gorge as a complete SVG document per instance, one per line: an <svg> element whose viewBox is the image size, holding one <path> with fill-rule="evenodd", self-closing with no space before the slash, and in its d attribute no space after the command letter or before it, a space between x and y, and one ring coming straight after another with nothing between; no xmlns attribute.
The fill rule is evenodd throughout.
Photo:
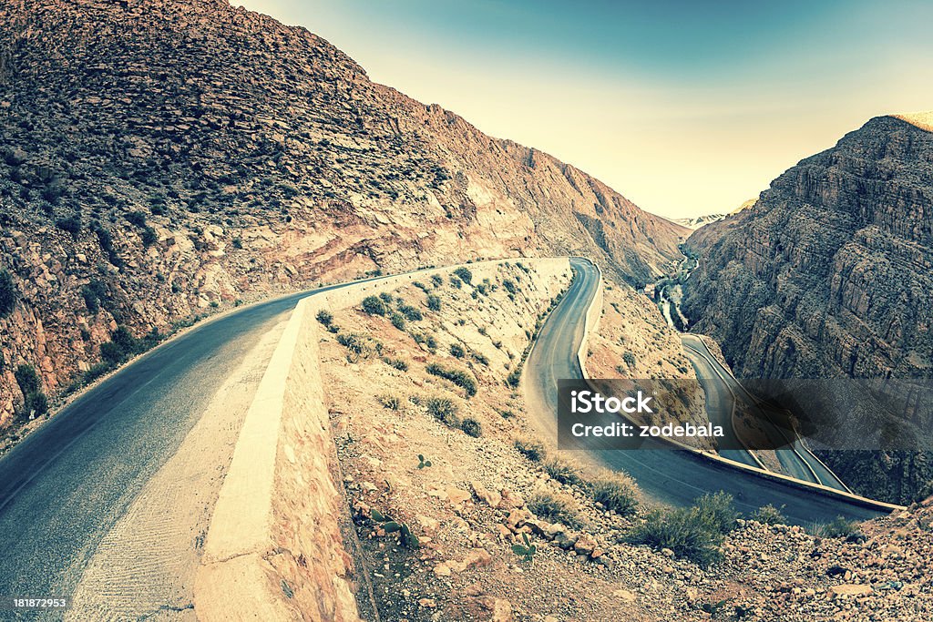
<svg viewBox="0 0 933 622"><path fill-rule="evenodd" d="M933 377L933 133L876 117L693 233L684 308L750 378ZM840 453L861 491L910 501L926 455Z"/></svg>

